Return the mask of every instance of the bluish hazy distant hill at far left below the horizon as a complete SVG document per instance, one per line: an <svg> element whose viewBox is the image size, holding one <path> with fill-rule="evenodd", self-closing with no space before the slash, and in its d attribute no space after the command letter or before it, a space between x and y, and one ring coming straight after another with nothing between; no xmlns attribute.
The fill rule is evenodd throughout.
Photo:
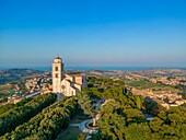
<svg viewBox="0 0 186 140"><path fill-rule="evenodd" d="M19 81L23 77L40 74L43 71L32 69L8 69L0 70L0 84Z"/></svg>

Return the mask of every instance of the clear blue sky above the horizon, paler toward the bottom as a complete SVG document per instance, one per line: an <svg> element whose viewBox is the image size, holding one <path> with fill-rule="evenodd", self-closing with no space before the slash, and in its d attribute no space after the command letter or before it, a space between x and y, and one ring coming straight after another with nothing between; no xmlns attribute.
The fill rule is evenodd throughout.
<svg viewBox="0 0 186 140"><path fill-rule="evenodd" d="M0 1L0 66L186 66L185 0Z"/></svg>

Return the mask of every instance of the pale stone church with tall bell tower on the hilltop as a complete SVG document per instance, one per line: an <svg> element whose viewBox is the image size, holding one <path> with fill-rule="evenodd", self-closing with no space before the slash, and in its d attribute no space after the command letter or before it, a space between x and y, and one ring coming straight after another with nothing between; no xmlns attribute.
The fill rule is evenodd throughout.
<svg viewBox="0 0 186 140"><path fill-rule="evenodd" d="M53 63L54 93L62 93L66 96L72 96L86 86L88 82L84 73L65 74L62 59L60 57L55 58Z"/></svg>

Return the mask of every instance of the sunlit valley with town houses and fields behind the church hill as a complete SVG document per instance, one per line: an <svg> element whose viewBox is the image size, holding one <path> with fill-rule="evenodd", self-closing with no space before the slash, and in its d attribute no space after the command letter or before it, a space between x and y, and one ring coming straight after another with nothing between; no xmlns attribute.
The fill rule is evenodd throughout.
<svg viewBox="0 0 186 140"><path fill-rule="evenodd" d="M43 72L28 69L2 70L0 82L4 81L4 79L9 79L9 77L16 75L11 75L10 73L12 73L12 71L15 71L15 73L19 73L19 71L27 71L28 73L27 77L22 75L22 78L15 80L16 82L7 80L7 83L1 83L0 91L2 91L2 94L4 95L0 98L1 105L16 103L24 97L35 96L40 93L46 94L53 92L51 71ZM33 73L30 71L33 71ZM81 75L82 73L86 74L86 77L123 80L126 88L131 91L133 95L141 95L144 98L149 97L166 108L170 106L179 106L186 102L186 70L184 69L67 71L68 79L71 79L72 75Z"/></svg>

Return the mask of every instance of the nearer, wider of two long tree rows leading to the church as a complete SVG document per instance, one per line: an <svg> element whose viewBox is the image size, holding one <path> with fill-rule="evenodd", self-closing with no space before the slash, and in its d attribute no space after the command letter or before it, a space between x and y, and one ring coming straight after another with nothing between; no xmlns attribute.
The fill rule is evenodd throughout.
<svg viewBox="0 0 186 140"><path fill-rule="evenodd" d="M78 102L74 97L62 97L43 109L27 122L15 128L11 133L5 133L2 140L54 140L69 125L77 112Z"/></svg>

